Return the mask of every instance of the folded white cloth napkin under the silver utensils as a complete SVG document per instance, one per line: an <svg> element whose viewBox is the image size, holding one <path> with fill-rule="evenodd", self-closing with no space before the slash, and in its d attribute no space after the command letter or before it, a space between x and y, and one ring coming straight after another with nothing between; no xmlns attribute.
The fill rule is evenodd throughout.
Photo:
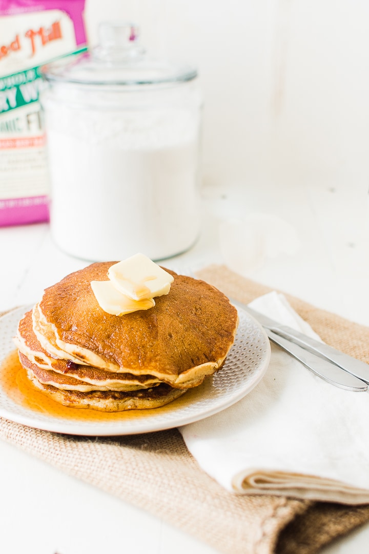
<svg viewBox="0 0 369 554"><path fill-rule="evenodd" d="M283 295L250 306L316 338ZM201 468L229 491L369 502L368 393L326 383L278 346L245 398L180 432Z"/></svg>

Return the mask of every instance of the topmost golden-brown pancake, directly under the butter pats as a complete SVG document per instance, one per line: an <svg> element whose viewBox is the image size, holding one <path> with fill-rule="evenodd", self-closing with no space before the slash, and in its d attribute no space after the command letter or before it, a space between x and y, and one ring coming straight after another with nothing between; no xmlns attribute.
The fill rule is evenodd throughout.
<svg viewBox="0 0 369 554"><path fill-rule="evenodd" d="M174 281L153 308L107 314L90 283L106 280L114 263L92 264L46 289L33 310L37 337L46 336L58 357L115 373L152 375L175 388L198 386L219 370L238 324L227 297L204 281L166 270Z"/></svg>

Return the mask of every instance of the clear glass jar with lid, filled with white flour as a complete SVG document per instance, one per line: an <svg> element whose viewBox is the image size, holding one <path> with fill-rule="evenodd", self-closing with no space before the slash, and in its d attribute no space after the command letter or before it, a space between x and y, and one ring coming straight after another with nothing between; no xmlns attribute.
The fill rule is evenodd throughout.
<svg viewBox="0 0 369 554"><path fill-rule="evenodd" d="M197 71L148 57L131 24L42 68L55 243L86 260L153 260L200 232Z"/></svg>

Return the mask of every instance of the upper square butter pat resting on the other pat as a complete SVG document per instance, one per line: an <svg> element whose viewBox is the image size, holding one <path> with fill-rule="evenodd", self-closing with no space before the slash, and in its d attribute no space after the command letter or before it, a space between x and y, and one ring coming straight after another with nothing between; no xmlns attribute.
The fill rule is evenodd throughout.
<svg viewBox="0 0 369 554"><path fill-rule="evenodd" d="M172 275L143 254L135 254L110 266L108 278L120 293L133 300L168 294L174 281Z"/></svg>

